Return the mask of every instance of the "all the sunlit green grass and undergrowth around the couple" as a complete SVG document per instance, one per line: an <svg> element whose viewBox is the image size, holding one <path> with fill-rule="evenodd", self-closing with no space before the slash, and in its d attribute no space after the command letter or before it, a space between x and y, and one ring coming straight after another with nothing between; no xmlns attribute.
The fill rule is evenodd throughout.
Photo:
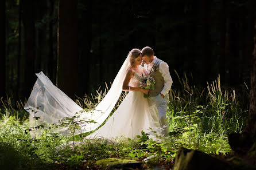
<svg viewBox="0 0 256 170"><path fill-rule="evenodd" d="M220 78L207 83L205 88L189 86L185 75L179 88L173 86L168 96L170 136L161 141L149 139L142 132L137 140L107 139L84 140L86 135L64 137L46 128L32 129L41 135L30 136L28 113L24 103L9 98L1 101L0 158L1 166L13 160L13 169L72 169L98 166L96 161L115 159L144 160L150 165L172 162L180 147L199 149L205 153L232 154L227 135L242 132L247 116L248 89L236 93L223 88ZM106 95L108 88L97 90L95 95L77 98L83 108L94 108ZM113 112L127 93L122 93ZM14 109L18 108L18 109ZM87 133L88 134L88 133ZM157 137L158 139L161 137ZM76 144L76 145L75 145ZM79 144L79 145L77 145ZM73 147L75 145L75 148ZM147 159L148 157L148 159ZM150 159L149 159L150 158ZM6 160L6 161L5 161ZM25 163L24 163L25 162Z"/></svg>

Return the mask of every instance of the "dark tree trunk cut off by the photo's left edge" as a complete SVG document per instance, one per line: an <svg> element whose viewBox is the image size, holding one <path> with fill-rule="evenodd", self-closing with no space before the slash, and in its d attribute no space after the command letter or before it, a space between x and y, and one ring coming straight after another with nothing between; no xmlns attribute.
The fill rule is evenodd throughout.
<svg viewBox="0 0 256 170"><path fill-rule="evenodd" d="M2 22L2 27L3 30L0 33L0 52L1 52L1 57L0 57L0 98L6 96L6 89L5 89L5 84L6 84L6 72L5 72L5 0L1 1L0 5L0 11L1 11L1 22Z"/></svg>

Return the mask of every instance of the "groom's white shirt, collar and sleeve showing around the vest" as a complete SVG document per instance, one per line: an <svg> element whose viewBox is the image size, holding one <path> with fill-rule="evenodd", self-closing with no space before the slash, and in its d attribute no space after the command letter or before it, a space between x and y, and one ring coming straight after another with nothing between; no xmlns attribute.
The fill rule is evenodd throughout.
<svg viewBox="0 0 256 170"><path fill-rule="evenodd" d="M144 68L147 70L148 73L150 73L154 63L156 62L157 57L154 56L154 60L150 62L148 65L144 65ZM161 94L164 96L169 92L170 88L172 87L172 77L170 77L169 72L169 66L166 62L161 62L159 65L159 72L162 74L162 77L164 78L164 88L162 88Z"/></svg>

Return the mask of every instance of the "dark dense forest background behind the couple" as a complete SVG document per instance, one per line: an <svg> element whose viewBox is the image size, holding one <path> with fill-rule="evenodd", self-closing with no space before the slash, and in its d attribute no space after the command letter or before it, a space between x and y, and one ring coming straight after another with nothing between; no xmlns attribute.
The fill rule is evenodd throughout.
<svg viewBox="0 0 256 170"><path fill-rule="evenodd" d="M191 84L250 85L249 0L1 1L0 96L24 100L44 72L69 97L109 85L129 50L150 46ZM59 33L59 34L58 34ZM192 75L192 76L191 76Z"/></svg>

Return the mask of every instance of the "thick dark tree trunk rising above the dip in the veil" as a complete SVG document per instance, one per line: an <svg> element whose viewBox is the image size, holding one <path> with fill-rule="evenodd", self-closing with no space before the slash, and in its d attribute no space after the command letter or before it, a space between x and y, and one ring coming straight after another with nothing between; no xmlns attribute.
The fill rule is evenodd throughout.
<svg viewBox="0 0 256 170"><path fill-rule="evenodd" d="M77 0L59 0L57 86L69 97L77 92Z"/></svg>

